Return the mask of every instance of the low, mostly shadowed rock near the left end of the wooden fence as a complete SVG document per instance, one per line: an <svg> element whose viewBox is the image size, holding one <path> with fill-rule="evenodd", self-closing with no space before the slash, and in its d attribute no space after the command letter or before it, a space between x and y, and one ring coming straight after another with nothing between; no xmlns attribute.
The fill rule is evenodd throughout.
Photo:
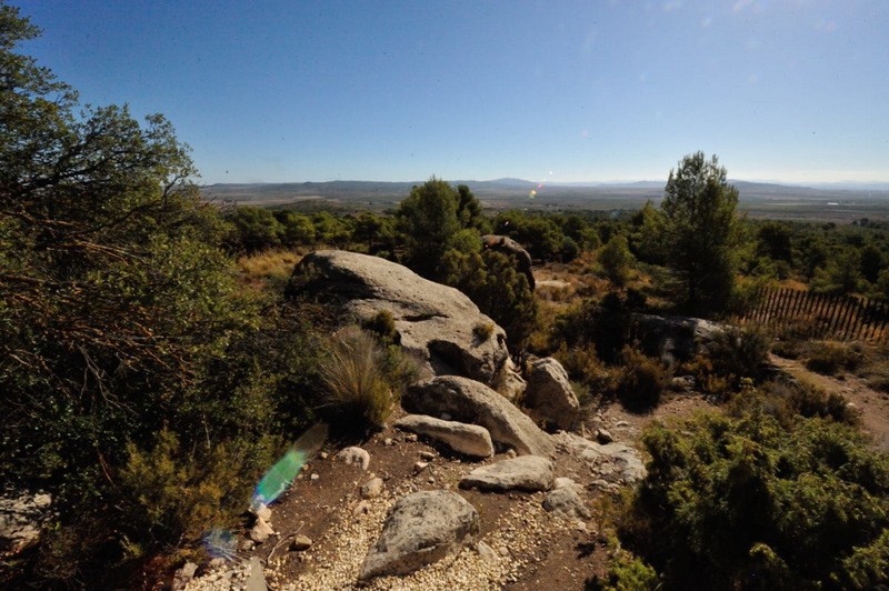
<svg viewBox="0 0 889 591"><path fill-rule="evenodd" d="M688 360L726 335L722 324L700 318L633 314L632 320L642 350L665 363Z"/></svg>

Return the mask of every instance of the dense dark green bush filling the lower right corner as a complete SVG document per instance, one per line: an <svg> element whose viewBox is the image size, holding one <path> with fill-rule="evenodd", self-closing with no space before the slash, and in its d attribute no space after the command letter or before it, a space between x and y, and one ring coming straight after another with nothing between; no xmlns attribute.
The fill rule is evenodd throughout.
<svg viewBox="0 0 889 591"><path fill-rule="evenodd" d="M620 523L667 589L869 588L885 581L889 460L839 423L703 415L643 442ZM855 583L852 583L855 581Z"/></svg>

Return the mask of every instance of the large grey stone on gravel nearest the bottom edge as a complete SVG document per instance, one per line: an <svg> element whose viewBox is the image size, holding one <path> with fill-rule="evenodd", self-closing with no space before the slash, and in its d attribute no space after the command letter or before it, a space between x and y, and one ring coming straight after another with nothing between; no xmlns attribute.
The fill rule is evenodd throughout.
<svg viewBox="0 0 889 591"><path fill-rule="evenodd" d="M478 532L479 513L459 494L444 490L414 492L390 509L358 580L409 574L456 552Z"/></svg>

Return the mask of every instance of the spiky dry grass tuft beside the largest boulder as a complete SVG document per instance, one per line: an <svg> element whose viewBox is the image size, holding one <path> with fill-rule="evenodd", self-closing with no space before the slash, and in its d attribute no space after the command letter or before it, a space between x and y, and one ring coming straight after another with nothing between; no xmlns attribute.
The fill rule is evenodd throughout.
<svg viewBox="0 0 889 591"><path fill-rule="evenodd" d="M382 358L372 337L354 327L342 329L321 362L321 408L347 424L382 427L396 402Z"/></svg>

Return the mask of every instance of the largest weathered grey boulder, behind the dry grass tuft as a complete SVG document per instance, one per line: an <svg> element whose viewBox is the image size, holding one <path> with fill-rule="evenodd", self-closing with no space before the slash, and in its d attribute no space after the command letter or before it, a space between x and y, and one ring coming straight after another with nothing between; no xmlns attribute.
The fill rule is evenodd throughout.
<svg viewBox="0 0 889 591"><path fill-rule="evenodd" d="M502 328L463 293L379 257L320 250L293 269L287 294L314 294L341 304L344 317L367 321L392 314L401 347L437 375L458 374L521 389ZM487 337L478 327L493 327ZM515 392L510 392L512 394Z"/></svg>

